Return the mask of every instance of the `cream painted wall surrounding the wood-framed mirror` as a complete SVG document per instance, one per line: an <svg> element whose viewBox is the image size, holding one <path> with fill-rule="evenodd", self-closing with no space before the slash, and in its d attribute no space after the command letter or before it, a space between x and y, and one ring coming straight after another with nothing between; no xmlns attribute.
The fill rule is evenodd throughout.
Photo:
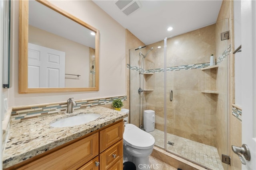
<svg viewBox="0 0 256 170"><path fill-rule="evenodd" d="M100 86L94 92L18 93L19 1L12 1L9 107L126 95L126 29L92 1L50 1L100 31ZM110 43L111 42L111 43Z"/></svg>

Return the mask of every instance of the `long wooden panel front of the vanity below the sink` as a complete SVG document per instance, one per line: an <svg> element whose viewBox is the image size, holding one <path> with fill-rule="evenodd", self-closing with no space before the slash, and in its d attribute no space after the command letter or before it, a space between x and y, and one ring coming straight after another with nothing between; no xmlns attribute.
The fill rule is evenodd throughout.
<svg viewBox="0 0 256 170"><path fill-rule="evenodd" d="M98 155L98 133L29 162L19 169L76 169Z"/></svg>

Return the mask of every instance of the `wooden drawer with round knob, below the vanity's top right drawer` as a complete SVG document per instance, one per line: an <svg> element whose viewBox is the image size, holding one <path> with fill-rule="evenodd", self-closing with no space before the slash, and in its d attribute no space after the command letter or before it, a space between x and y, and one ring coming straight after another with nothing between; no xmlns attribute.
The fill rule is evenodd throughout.
<svg viewBox="0 0 256 170"><path fill-rule="evenodd" d="M117 160L123 156L123 140L114 144L100 154L100 169L110 168Z"/></svg>

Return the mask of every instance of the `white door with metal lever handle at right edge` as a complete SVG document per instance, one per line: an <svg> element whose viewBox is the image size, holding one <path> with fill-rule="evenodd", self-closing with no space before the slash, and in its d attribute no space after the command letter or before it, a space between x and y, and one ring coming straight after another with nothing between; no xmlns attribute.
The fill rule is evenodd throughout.
<svg viewBox="0 0 256 170"><path fill-rule="evenodd" d="M250 149L250 160L242 169L256 169L256 3L241 1L242 20L242 143Z"/></svg>

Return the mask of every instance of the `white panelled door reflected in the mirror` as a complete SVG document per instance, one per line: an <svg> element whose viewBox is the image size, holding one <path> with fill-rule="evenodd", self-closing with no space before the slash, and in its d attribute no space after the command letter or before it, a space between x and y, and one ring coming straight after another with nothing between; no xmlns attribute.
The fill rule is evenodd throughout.
<svg viewBox="0 0 256 170"><path fill-rule="evenodd" d="M65 52L28 43L28 88L65 87Z"/></svg>

